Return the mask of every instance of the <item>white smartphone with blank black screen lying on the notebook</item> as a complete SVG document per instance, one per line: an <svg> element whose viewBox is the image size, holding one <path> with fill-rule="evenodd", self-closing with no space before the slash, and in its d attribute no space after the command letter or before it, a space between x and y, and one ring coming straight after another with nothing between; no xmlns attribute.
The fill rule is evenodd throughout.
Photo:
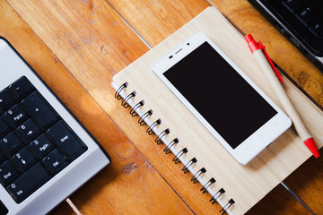
<svg viewBox="0 0 323 215"><path fill-rule="evenodd" d="M202 32L196 32L152 68L240 164L247 164L292 125Z"/></svg>

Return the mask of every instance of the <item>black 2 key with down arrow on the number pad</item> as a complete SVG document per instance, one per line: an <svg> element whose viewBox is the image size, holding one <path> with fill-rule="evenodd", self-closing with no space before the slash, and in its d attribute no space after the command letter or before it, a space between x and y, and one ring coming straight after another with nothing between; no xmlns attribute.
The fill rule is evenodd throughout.
<svg viewBox="0 0 323 215"><path fill-rule="evenodd" d="M18 151L12 158L14 167L18 172L22 173L28 168L31 168L31 165L36 163L35 157L31 154L31 151L27 147Z"/></svg>

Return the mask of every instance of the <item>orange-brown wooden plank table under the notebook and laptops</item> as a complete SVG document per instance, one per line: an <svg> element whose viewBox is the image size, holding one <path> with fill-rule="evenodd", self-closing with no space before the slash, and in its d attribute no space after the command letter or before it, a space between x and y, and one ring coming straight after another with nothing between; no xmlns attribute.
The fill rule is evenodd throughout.
<svg viewBox="0 0 323 215"><path fill-rule="evenodd" d="M162 146L114 99L112 76L215 5L242 33L261 39L275 63L323 106L323 73L246 0L0 1L0 35L109 152L112 164L70 200L82 214L217 214ZM102 108L104 107L104 108ZM323 153L322 150L320 150ZM323 214L323 162L309 159L249 214ZM248 193L247 193L248 194ZM74 214L63 202L52 214Z"/></svg>

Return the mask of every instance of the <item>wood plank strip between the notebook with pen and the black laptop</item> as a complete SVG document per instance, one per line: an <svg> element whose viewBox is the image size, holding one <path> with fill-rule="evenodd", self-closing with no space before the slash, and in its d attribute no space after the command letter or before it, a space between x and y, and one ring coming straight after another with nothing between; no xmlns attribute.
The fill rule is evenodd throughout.
<svg viewBox="0 0 323 215"><path fill-rule="evenodd" d="M247 0L210 0L242 33L251 33L266 46L269 56L323 107L323 73L310 63Z"/></svg>

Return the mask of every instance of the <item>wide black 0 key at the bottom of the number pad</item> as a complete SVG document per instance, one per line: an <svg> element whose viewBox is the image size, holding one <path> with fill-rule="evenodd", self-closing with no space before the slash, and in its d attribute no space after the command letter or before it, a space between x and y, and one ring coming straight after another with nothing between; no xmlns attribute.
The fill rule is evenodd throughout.
<svg viewBox="0 0 323 215"><path fill-rule="evenodd" d="M39 163L31 167L7 186L7 191L13 196L15 202L20 203L31 193L36 191L41 185L44 185L49 179L48 172Z"/></svg>

